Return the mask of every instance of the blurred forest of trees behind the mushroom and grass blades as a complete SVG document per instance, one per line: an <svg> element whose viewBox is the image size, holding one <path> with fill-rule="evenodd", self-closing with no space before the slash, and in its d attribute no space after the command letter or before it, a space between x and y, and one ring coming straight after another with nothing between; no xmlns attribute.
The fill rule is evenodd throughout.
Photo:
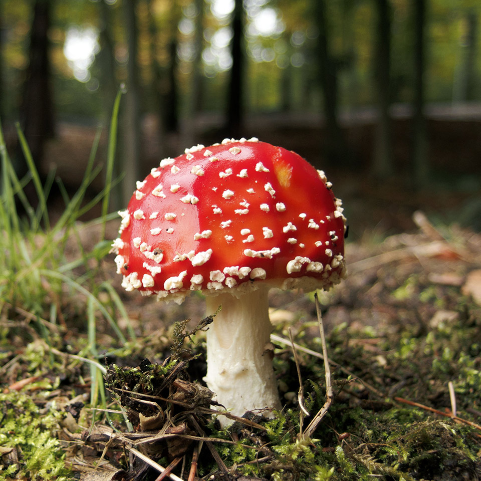
<svg viewBox="0 0 481 481"><path fill-rule="evenodd" d="M326 170L355 231L409 228L419 207L481 227L476 0L3 0L0 13L9 150L19 121L41 174L67 188L122 89L113 208L159 158L256 136Z"/></svg>

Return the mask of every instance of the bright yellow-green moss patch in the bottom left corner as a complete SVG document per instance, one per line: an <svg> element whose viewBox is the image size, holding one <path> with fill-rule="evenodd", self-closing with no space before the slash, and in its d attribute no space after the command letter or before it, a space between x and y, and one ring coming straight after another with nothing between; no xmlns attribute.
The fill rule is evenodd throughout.
<svg viewBox="0 0 481 481"><path fill-rule="evenodd" d="M19 454L19 462L0 469L0 479L73 479L65 467L65 454L56 437L63 414L55 403L40 409L26 394L0 393L2 424L0 446L12 448ZM5 458L4 458L5 459Z"/></svg>

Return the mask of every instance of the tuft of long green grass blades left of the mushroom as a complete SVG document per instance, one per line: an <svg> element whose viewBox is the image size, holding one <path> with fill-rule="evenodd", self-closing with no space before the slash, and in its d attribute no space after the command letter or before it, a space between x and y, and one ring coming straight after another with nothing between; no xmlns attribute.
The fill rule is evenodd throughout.
<svg viewBox="0 0 481 481"><path fill-rule="evenodd" d="M112 125L116 128L116 118L120 95L114 106ZM100 262L110 250L110 242L103 236L105 223L110 218L105 205L108 204L112 187L112 164L114 161L114 145L116 130L110 132L114 139L109 144L107 170L110 173L104 191L89 202L84 202L87 189L94 178L100 173L100 167L94 167L100 131L92 147L90 159L85 171L84 179L79 190L72 198L65 194L65 210L55 225L51 225L48 212L48 194L52 187L53 175L45 185L42 185L39 172L20 129L18 135L25 159L28 163L29 174L25 179L19 179L13 168L12 161L0 125L0 230L6 233L0 237L0 303L8 306L13 312L21 308L29 312L31 318L37 320L40 334L51 341L46 330L60 324L61 300L65 290L69 290L72 299L76 295L87 300L90 309L86 317L89 326L93 328L96 318L102 316L110 324L112 330L121 343L126 342L122 331L114 319L114 313L121 309L121 303L115 291L107 283L99 283ZM38 205L34 207L24 187L31 182L35 188ZM60 183L59 187L63 189ZM77 220L86 211L103 199L103 216L97 221L101 225L101 235L98 243L90 252L85 252L80 241L80 231ZM21 206L24 213L19 210ZM77 239L77 245L75 245ZM73 244L72 244L73 243ZM72 260L66 257L66 251L76 250L78 258ZM79 274L80 273L80 274ZM108 300L100 300L99 294L106 292ZM125 314L125 311L122 312ZM127 316L125 319L128 321ZM135 335L128 325L130 336ZM10 334L15 332L14 329ZM54 329L55 332L55 329ZM91 329L92 342L95 341L94 329ZM2 335L2 333L0 333ZM23 333L25 335L25 332ZM91 353L95 354L93 344Z"/></svg>

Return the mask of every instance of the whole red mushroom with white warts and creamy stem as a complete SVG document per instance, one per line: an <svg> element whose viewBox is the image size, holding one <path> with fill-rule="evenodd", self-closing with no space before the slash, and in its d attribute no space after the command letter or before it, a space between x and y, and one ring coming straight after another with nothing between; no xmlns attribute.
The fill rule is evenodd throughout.
<svg viewBox="0 0 481 481"><path fill-rule="evenodd" d="M294 152L256 138L197 145L137 182L119 212L115 262L127 291L177 302L200 291L208 312L221 305L207 386L236 415L279 409L268 291L340 281L342 211L324 172Z"/></svg>

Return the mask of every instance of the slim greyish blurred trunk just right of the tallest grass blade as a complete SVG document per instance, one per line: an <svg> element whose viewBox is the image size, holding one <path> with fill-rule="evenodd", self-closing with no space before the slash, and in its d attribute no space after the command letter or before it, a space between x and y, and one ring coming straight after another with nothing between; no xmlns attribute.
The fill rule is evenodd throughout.
<svg viewBox="0 0 481 481"><path fill-rule="evenodd" d="M124 27L127 40L127 92L123 106L122 125L122 170L125 178L122 181L122 204L127 205L135 182L141 180L141 119L140 119L140 82L137 62L138 32L136 17L137 0L123 2Z"/></svg>

